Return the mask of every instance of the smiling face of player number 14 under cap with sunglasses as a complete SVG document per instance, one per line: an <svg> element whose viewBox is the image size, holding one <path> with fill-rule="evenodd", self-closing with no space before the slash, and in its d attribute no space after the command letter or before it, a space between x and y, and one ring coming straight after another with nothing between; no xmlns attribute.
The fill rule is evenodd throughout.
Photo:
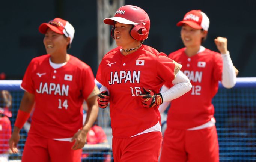
<svg viewBox="0 0 256 162"><path fill-rule="evenodd" d="M47 29L44 37L44 46L47 54L58 55L65 52L70 38L64 37L63 34L55 33L50 28Z"/></svg>

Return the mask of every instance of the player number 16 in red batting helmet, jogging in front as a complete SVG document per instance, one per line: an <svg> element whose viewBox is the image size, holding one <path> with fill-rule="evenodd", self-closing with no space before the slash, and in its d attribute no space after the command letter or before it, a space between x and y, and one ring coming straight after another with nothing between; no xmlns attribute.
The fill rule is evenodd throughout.
<svg viewBox="0 0 256 162"><path fill-rule="evenodd" d="M158 162L162 143L158 105L183 95L191 84L179 71L180 64L142 44L150 28L143 9L122 6L104 23L114 26L111 36L118 46L102 58L96 75L102 84L98 105L106 108L110 103L114 161ZM159 93L166 81L174 81L174 86Z"/></svg>

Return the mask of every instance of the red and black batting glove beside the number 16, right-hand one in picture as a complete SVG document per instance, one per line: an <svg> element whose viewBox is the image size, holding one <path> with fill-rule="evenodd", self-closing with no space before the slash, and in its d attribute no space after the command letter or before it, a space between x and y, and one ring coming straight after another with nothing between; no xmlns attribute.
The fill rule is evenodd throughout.
<svg viewBox="0 0 256 162"><path fill-rule="evenodd" d="M155 94L151 90L143 87L145 94L141 94L140 99L142 100L143 107L152 108L163 103L163 97L161 93Z"/></svg>

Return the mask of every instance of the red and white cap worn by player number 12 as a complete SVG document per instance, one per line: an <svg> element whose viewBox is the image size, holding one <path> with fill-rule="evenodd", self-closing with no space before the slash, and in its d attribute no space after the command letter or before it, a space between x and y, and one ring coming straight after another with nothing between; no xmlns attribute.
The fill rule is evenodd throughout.
<svg viewBox="0 0 256 162"><path fill-rule="evenodd" d="M191 10L186 13L182 21L177 23L177 26L188 24L190 27L195 29L203 29L208 31L210 20L201 10Z"/></svg>

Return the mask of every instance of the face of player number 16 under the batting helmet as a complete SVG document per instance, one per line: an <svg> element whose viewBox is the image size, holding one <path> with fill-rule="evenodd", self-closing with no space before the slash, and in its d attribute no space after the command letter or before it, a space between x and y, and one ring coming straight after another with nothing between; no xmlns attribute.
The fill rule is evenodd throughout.
<svg viewBox="0 0 256 162"><path fill-rule="evenodd" d="M130 35L130 30L133 28L131 24L123 24L116 22L114 29L114 39L116 40L116 45L121 46L123 49L134 48L134 44L138 40L133 39Z"/></svg>

